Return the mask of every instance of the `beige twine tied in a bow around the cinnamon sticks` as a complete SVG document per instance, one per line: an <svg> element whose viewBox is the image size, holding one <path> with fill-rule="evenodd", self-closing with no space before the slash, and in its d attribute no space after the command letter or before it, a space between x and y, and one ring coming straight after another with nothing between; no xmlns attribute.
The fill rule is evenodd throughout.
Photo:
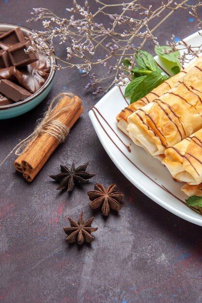
<svg viewBox="0 0 202 303"><path fill-rule="evenodd" d="M60 110L58 110L58 112L54 115L51 115L54 108L53 104L55 102L55 100L57 100L58 98L62 97L62 96L68 96L71 97L72 99L72 103L68 104L68 106L65 106L63 108L61 108ZM69 92L62 92L60 94L58 94L56 97L54 97L47 109L47 112L45 112L44 117L41 119L38 119L36 121L36 127L33 131L33 133L28 136L27 138L25 138L24 140L20 141L15 147L14 149L5 157L5 159L0 163L0 166L7 160L7 158L13 153L15 152L15 154L17 156L27 152L27 150L30 148L30 146L33 144L33 142L36 140L36 138L40 135L42 135L43 133L47 133L50 136L53 136L54 138L56 138L60 143L64 142L64 140L66 139L66 137L69 134L69 128L64 125L62 122L56 120L56 118L61 115L62 112L64 112L65 110L67 110L70 106L72 106L72 104L74 103L75 97L72 93Z"/></svg>

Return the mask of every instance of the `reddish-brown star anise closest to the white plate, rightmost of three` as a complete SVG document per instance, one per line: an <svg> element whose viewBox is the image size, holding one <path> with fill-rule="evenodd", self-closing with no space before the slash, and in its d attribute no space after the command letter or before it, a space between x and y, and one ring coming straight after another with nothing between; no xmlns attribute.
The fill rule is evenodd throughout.
<svg viewBox="0 0 202 303"><path fill-rule="evenodd" d="M94 190L87 193L92 201L89 205L91 208L96 209L102 205L102 214L107 216L109 214L109 208L119 211L121 204L119 203L124 194L116 191L116 184L109 185L107 191L101 184L95 184Z"/></svg>

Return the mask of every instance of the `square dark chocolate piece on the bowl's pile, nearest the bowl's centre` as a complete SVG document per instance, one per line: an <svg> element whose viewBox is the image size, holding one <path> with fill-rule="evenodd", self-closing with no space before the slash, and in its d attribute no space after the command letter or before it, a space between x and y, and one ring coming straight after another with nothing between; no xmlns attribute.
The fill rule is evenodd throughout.
<svg viewBox="0 0 202 303"><path fill-rule="evenodd" d="M25 49L27 49L29 46L31 46L31 40L27 39L26 41L19 43L8 49L8 54L12 65L26 66L38 60L37 54L34 53L27 54L25 52Z"/></svg>

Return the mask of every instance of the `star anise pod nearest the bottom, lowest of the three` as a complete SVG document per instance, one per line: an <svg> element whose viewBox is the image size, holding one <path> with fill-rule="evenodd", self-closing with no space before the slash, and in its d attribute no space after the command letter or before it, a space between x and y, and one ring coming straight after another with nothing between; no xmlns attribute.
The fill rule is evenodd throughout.
<svg viewBox="0 0 202 303"><path fill-rule="evenodd" d="M68 218L71 227L64 227L64 232L68 235L67 242L83 244L83 242L91 243L94 237L91 235L92 231L96 231L97 227L91 227L94 217L88 219L85 223L83 220L83 212L81 212L78 223Z"/></svg>

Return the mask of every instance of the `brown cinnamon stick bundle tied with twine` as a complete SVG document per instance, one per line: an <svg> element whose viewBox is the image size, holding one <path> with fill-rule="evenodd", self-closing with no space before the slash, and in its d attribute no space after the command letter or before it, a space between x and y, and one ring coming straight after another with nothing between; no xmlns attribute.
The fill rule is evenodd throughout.
<svg viewBox="0 0 202 303"><path fill-rule="evenodd" d="M64 108L67 109L63 110ZM78 96L70 98L68 95L64 95L51 111L48 119L56 117L53 118L53 121L60 123L55 123L56 131L60 132L60 125L64 125L69 130L78 120L82 111L82 101ZM51 136L51 129L48 129L47 124L46 131L31 139L26 146L25 152L14 161L14 167L23 173L23 177L27 181L31 182L59 144L60 140L55 136Z"/></svg>

